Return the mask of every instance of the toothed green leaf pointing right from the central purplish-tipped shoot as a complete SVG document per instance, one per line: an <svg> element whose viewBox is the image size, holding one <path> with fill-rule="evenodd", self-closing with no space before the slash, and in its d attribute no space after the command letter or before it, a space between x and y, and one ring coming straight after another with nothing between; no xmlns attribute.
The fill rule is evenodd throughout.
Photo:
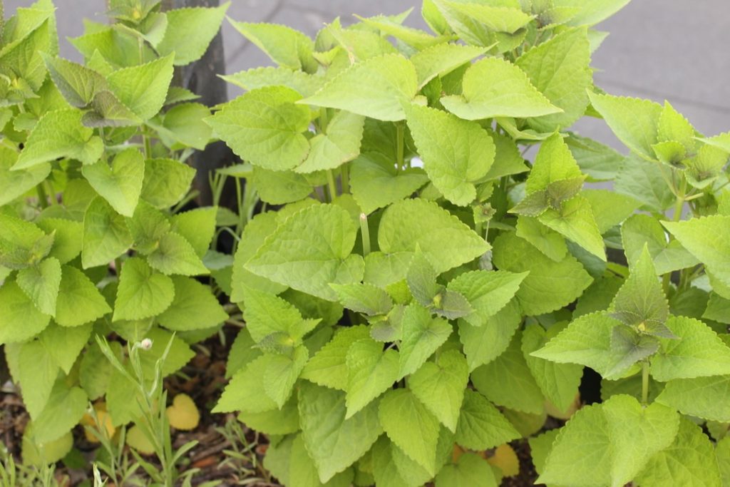
<svg viewBox="0 0 730 487"><path fill-rule="evenodd" d="M449 282L448 289L462 294L472 305L474 312L464 316L464 320L472 326L483 326L512 300L527 275L527 272L464 272Z"/></svg>

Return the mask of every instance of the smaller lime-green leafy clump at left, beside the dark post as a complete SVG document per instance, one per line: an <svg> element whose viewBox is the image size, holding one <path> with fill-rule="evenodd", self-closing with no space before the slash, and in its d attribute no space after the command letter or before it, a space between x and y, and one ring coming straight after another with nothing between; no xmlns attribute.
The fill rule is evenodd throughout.
<svg viewBox="0 0 730 487"><path fill-rule="evenodd" d="M226 266L210 250L217 209L186 206L210 110L171 84L227 4L159 3L110 1L114 23L71 39L85 65L58 58L50 0L0 23L0 345L31 416L30 464L70 450L90 401L105 398L115 427L137 421L133 368L159 383L166 345L162 376L228 318L209 285ZM90 341L112 333L154 345L137 364L111 342L123 373Z"/></svg>

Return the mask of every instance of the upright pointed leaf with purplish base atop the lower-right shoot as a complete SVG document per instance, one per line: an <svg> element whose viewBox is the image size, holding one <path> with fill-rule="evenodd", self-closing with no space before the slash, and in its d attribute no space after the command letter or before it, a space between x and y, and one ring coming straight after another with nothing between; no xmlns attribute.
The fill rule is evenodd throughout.
<svg viewBox="0 0 730 487"><path fill-rule="evenodd" d="M637 326L639 331L664 336L662 329L669 316L669 304L648 248L642 250L639 260L631 266L629 277L613 298L611 310L614 318Z"/></svg>

